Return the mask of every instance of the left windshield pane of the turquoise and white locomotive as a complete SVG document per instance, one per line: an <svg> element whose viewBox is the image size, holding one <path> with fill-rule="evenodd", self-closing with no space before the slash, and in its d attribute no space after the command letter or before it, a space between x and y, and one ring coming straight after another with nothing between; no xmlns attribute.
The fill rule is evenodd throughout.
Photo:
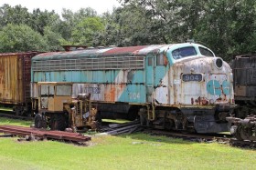
<svg viewBox="0 0 256 170"><path fill-rule="evenodd" d="M174 59L180 59L187 56L197 55L197 51L193 46L178 48L172 52Z"/></svg>

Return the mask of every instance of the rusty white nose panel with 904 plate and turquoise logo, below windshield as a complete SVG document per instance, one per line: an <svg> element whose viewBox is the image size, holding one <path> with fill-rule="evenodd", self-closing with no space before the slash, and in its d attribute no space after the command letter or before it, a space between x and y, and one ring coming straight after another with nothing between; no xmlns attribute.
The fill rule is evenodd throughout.
<svg viewBox="0 0 256 170"><path fill-rule="evenodd" d="M216 58L191 58L176 63L171 68L174 94L171 103L175 105L217 105L232 104L232 72L226 62L216 66ZM196 74L196 75L195 75ZM193 80L185 81L182 75L192 76ZM204 78L199 79L201 75ZM194 79L195 78L195 79ZM198 80L196 80L198 78Z"/></svg>

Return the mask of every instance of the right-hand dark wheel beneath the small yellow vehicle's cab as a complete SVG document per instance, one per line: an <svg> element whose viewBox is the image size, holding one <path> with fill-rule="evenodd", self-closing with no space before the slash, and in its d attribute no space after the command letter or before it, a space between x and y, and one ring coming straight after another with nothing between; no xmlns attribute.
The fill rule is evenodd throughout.
<svg viewBox="0 0 256 170"><path fill-rule="evenodd" d="M64 114L52 114L50 116L50 129L64 131L66 128L66 118Z"/></svg>

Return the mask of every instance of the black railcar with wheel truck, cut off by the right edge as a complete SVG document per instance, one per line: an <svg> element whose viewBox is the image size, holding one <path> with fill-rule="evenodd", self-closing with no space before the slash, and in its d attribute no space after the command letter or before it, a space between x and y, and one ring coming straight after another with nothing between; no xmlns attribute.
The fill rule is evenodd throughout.
<svg viewBox="0 0 256 170"><path fill-rule="evenodd" d="M239 140L256 141L256 55L238 55L232 61L237 108L227 120Z"/></svg>

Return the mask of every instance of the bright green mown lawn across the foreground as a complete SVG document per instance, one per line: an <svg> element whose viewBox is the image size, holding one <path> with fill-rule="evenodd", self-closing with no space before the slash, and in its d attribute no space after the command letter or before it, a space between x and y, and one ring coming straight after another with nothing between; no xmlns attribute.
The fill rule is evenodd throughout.
<svg viewBox="0 0 256 170"><path fill-rule="evenodd" d="M255 169L255 160L255 150L141 133L92 136L89 146L0 138L0 169Z"/></svg>

